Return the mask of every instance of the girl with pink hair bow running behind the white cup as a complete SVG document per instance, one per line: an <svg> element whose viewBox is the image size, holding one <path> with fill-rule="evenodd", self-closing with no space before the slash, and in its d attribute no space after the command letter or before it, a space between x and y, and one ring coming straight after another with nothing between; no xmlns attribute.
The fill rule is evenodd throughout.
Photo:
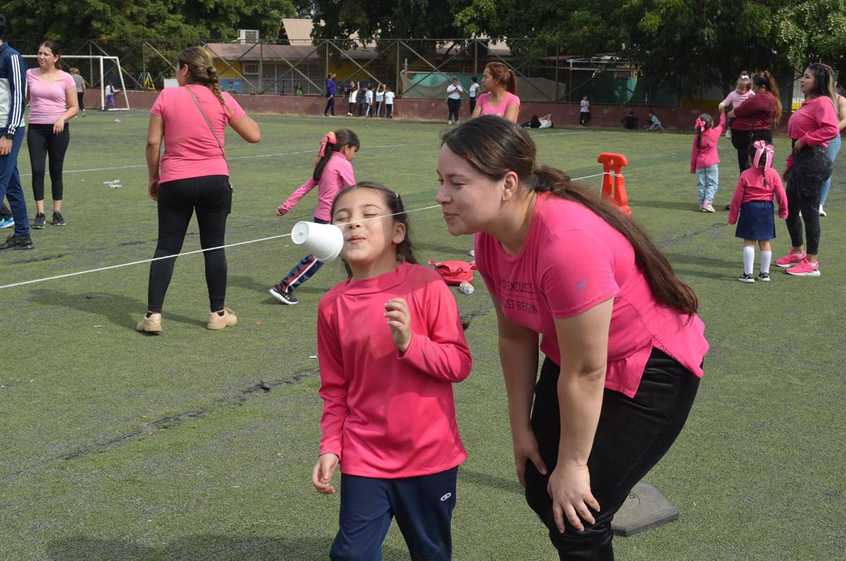
<svg viewBox="0 0 846 561"><path fill-rule="evenodd" d="M315 222L327 224L330 219L332 201L338 192L345 186L354 185L353 158L359 151L359 137L353 131L341 129L335 132L327 132L320 142L320 152L317 154L317 163L314 173L309 181L306 181L299 189L294 191L288 200L280 204L276 209L278 216L288 214L299 200L317 187L317 208L315 210ZM283 280L270 289L272 297L283 304L293 305L299 303L294 296L294 288L309 280L323 263L314 255L306 255L294 269L288 271Z"/></svg>

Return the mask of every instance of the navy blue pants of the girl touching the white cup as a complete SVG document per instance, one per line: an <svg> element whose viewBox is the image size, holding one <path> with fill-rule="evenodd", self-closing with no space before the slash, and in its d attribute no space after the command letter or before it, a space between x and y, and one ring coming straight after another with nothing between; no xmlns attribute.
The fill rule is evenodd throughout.
<svg viewBox="0 0 846 561"><path fill-rule="evenodd" d="M341 474L341 514L332 561L379 561L391 520L412 561L448 561L459 469L399 479Z"/></svg>

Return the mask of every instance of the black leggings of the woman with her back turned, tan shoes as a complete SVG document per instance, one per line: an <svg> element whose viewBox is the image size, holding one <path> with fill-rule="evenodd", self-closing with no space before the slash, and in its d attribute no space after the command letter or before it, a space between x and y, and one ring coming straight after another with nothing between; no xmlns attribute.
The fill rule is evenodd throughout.
<svg viewBox="0 0 846 561"><path fill-rule="evenodd" d="M232 190L226 175L206 175L159 186L159 235L155 257L176 255L182 249L191 214L197 211L200 247L223 245L226 217L232 208ZM206 286L212 312L223 308L226 298L226 253L222 249L203 253L206 259ZM150 264L147 309L161 312L164 295L173 276L176 258L160 259Z"/></svg>

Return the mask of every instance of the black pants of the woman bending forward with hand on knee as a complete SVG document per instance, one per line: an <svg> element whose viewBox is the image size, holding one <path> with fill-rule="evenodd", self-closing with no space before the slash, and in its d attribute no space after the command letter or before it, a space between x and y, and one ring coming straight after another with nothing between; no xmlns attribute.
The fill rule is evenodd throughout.
<svg viewBox="0 0 846 561"><path fill-rule="evenodd" d="M531 416L547 474L555 469L561 432L558 373L558 364L547 358L535 387ZM547 525L552 545L561 559L609 561L614 558L611 520L634 484L658 463L681 432L698 388L699 378L673 358L652 349L634 398L605 390L588 458L591 492L602 510L595 514L596 524L585 524L584 531L574 530L565 520L567 529L563 534L558 532L552 499L547 493L549 475L541 475L535 464L526 462L526 502Z"/></svg>

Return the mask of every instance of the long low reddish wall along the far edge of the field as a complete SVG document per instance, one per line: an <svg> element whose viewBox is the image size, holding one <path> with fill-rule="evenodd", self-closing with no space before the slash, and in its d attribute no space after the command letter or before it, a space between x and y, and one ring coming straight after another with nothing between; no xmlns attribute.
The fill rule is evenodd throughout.
<svg viewBox="0 0 846 561"><path fill-rule="evenodd" d="M156 101L157 92L129 91L129 104L133 109L149 109ZM320 115L326 106L326 98L322 96L254 96L236 94L238 103L247 113L276 113L276 114L307 114ZM91 100L89 102L89 99ZM86 94L85 104L96 106L99 104L99 92L90 91ZM345 116L347 103L343 99L335 101L336 113ZM591 105L591 127L606 127L619 129L620 119L634 109L635 116L640 119L640 126L648 120L645 107L620 107L618 105ZM393 105L394 116L400 119L442 120L447 119L446 100L432 99L404 99L396 98ZM692 131L696 116L701 113L711 113L716 117L717 108L656 108L655 113L661 119L662 125L668 130ZM461 103L461 116L470 118L470 104ZM552 123L557 126L573 126L579 124L579 105L576 103L524 103L520 108L519 122L531 119L535 114L539 117L552 114ZM782 128L787 123L789 114L785 113Z"/></svg>

